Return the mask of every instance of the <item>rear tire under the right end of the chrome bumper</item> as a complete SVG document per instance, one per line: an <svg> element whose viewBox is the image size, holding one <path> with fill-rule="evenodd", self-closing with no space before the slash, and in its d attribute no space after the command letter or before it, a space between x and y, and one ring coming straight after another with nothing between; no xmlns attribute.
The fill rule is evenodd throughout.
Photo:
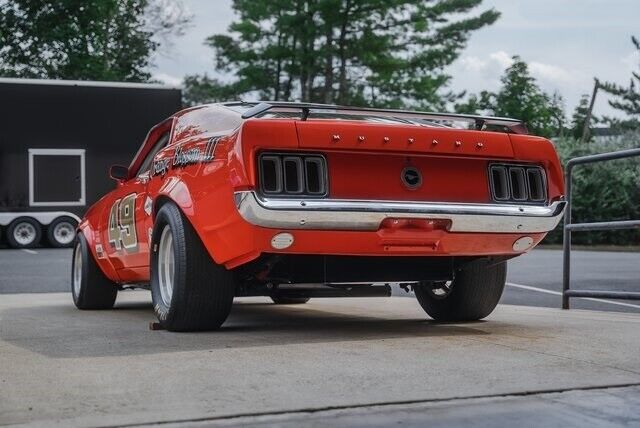
<svg viewBox="0 0 640 428"><path fill-rule="evenodd" d="M495 309L507 278L507 263L476 260L446 283L414 287L422 309L436 321L476 321Z"/></svg>

